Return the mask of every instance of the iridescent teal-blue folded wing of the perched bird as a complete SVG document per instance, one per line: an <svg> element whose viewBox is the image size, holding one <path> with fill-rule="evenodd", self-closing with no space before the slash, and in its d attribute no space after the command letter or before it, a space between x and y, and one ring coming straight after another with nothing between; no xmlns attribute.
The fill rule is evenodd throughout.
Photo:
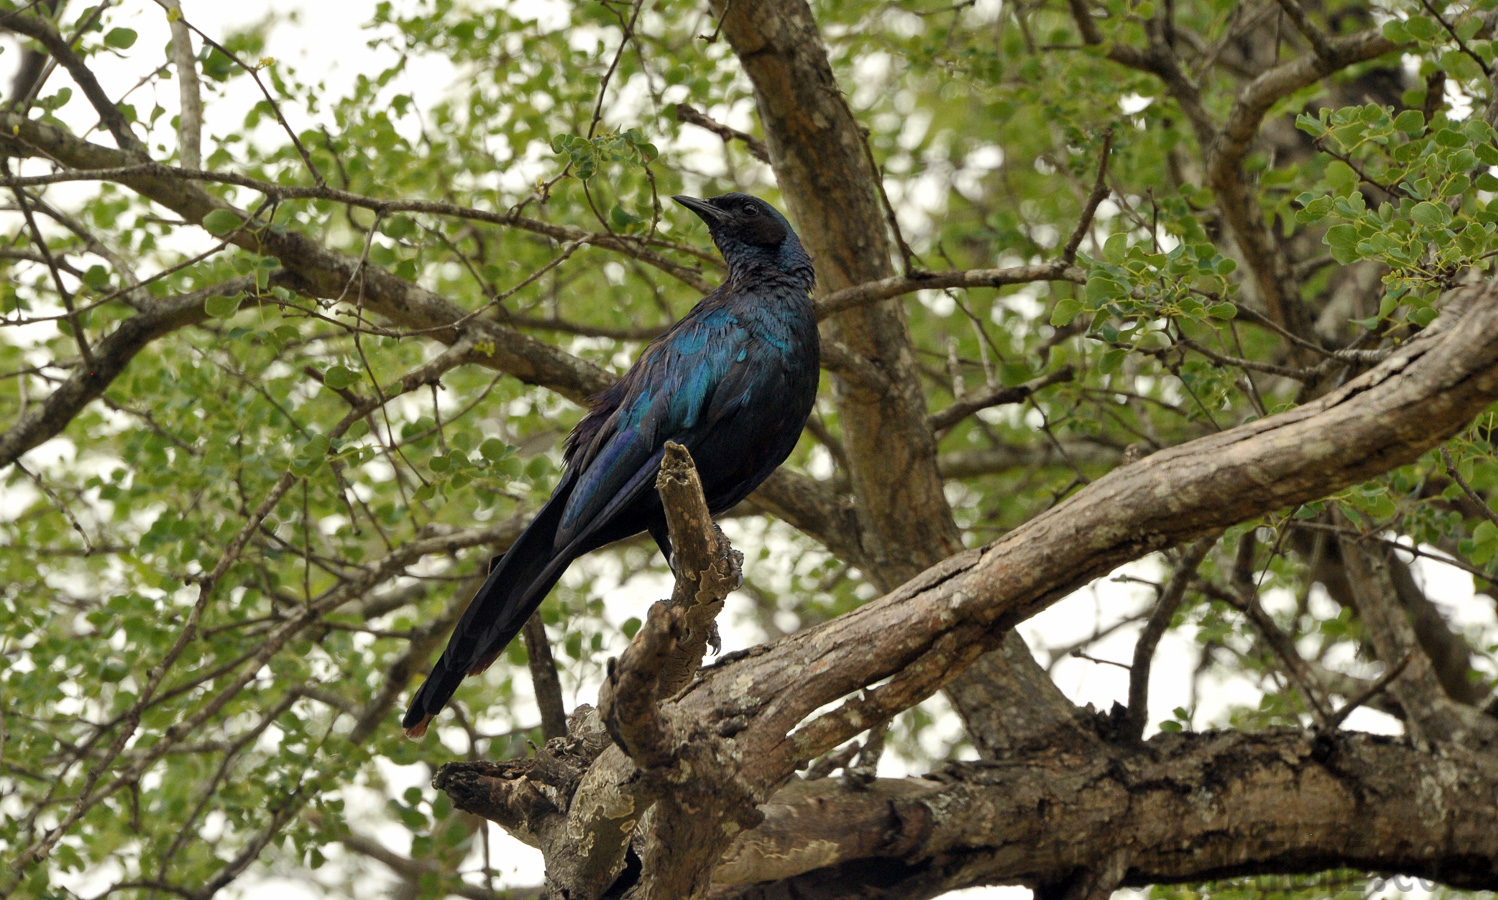
<svg viewBox="0 0 1498 900"><path fill-rule="evenodd" d="M622 379L617 409L589 446L578 448L559 550L584 541L652 488L667 440L692 449L712 424L715 391L740 362L746 338L731 311L698 305L641 353Z"/></svg>

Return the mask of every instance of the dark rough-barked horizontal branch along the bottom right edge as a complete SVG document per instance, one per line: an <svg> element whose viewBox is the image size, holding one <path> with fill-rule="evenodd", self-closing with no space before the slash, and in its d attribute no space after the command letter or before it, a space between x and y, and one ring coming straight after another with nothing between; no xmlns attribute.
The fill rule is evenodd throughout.
<svg viewBox="0 0 1498 900"><path fill-rule="evenodd" d="M1161 734L1132 752L959 762L860 789L791 782L724 857L712 897L1058 884L1118 851L1125 887L1348 867L1494 890L1495 792L1491 753L1440 759L1377 735L1285 731Z"/></svg>

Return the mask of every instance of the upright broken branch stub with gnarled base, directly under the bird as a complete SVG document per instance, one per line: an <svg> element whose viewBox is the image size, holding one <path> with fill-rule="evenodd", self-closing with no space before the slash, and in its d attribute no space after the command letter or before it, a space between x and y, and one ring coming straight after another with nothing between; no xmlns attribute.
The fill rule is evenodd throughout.
<svg viewBox="0 0 1498 900"><path fill-rule="evenodd" d="M750 797L734 786L730 746L703 732L662 699L685 684L716 638L713 617L740 584L742 554L713 524L691 455L676 443L656 478L671 535L676 590L655 603L623 656L610 660L596 714L574 713L571 735L548 741L535 759L502 764L449 764L434 785L460 809L488 816L547 854L548 879L569 897L598 897L625 867L641 816L655 804L656 828L641 854L656 860L652 890L688 896L704 878L709 852L701 842L668 840L662 830L694 828L694 813L719 806L719 815L752 813ZM604 728L614 738L596 740ZM544 785L544 786L538 786ZM659 843L665 842L665 843ZM683 851L683 848L694 848ZM670 860L661 860L670 852ZM665 875L664 875L665 873ZM671 875L674 873L674 875ZM679 893L673 893L679 891Z"/></svg>

